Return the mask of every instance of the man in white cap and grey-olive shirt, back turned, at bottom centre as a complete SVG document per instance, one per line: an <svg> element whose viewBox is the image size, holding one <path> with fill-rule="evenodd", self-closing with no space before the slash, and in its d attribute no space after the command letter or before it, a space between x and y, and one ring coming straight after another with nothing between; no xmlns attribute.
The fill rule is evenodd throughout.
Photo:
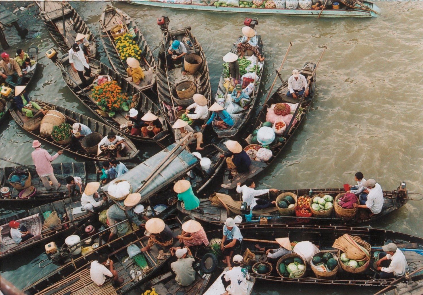
<svg viewBox="0 0 423 295"><path fill-rule="evenodd" d="M176 250L176 251L175 251ZM171 253L175 251L177 261L170 264L173 272L176 274L175 281L181 286L189 286L195 281L195 270L192 263L195 262L191 250L188 247L171 248Z"/></svg>

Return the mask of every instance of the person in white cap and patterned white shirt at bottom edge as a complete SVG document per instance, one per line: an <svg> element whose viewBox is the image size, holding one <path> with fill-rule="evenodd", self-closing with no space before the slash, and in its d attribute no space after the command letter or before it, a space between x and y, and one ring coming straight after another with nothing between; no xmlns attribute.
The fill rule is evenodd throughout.
<svg viewBox="0 0 423 295"><path fill-rule="evenodd" d="M248 270L242 268L242 256L237 254L233 257L233 267L222 275L223 287L226 292L222 295L245 295L247 294L248 284L247 280L250 279Z"/></svg>

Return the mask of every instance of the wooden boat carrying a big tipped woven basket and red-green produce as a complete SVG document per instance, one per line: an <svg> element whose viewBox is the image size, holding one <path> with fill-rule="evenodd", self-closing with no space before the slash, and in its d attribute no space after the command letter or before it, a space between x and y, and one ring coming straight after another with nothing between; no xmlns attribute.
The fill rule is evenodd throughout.
<svg viewBox="0 0 423 295"><path fill-rule="evenodd" d="M131 160L131 159L135 158L135 156L137 156L137 154L140 152L135 147L134 143L129 138L127 138L125 134L122 134L116 128L107 126L106 124L100 123L99 121L94 120L91 117L88 117L88 116L85 116L85 115L82 115L82 114L78 114L74 111L71 111L69 109L65 109L65 108L60 107L60 106L56 106L54 104L50 104L50 103L42 102L42 101L37 101L37 103L40 105L40 107L42 107L45 110L56 109L57 111L61 112L66 117L66 123L69 123L70 125L73 125L74 123L82 123L82 124L85 124L86 126L88 126L91 129L91 131L98 132L103 137L107 136L107 134L111 131L113 131L116 135L123 137L125 139L124 152L126 152L126 156L116 158L116 159L118 159L118 161ZM29 132L34 137L41 139L44 142L47 142L51 145L55 145L57 148L60 148L60 149L66 149L67 151L74 153L77 156L88 158L88 159L91 159L91 160L94 160L94 161L103 161L103 160L107 159L105 156L101 156L101 155L98 156L97 154L88 153L86 150L83 150L83 149L76 150L76 149L72 148L69 144L59 144L59 143L55 142L51 137L41 137L39 128L36 128L33 131L28 131L24 127L25 122L28 121L28 117L25 117L25 115L22 115L22 113L18 112L16 109L11 110L10 113L11 113L13 119L16 121L16 123L22 129ZM35 116L35 118L36 118L36 116ZM33 118L31 118L31 120L33 120Z"/></svg>

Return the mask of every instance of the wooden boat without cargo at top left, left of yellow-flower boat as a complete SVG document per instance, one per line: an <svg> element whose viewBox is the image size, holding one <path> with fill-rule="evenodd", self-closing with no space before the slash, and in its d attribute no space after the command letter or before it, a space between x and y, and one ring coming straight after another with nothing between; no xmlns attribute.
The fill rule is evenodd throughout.
<svg viewBox="0 0 423 295"><path fill-rule="evenodd" d="M85 24L85 21L77 13L77 11L67 1L35 1L40 8L40 16L47 30L52 36L53 40L59 45L63 53L71 49L72 44L75 43L77 33L87 36L90 42L89 57L95 57L97 54L97 43L90 28ZM63 13L64 13L64 28L63 28Z"/></svg>

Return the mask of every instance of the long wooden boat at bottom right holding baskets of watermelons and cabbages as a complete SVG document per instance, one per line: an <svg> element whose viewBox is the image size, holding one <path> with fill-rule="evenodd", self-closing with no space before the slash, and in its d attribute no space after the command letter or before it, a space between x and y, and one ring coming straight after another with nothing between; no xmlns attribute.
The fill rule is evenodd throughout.
<svg viewBox="0 0 423 295"><path fill-rule="evenodd" d="M333 243L344 234L361 238L372 247L371 258L368 269L363 273L349 273L341 267L333 279L316 278L309 265L307 273L303 278L281 277L276 270L276 262L272 263L273 270L269 275L258 275L253 272L250 276L257 280L275 283L299 283L299 284L321 284L321 285L343 285L343 286L388 286L395 279L379 279L373 270L374 252L380 251L380 247L387 243L395 243L398 248L403 250L404 256L409 265L409 271L414 271L423 266L423 238L408 235L401 232L393 232L386 229L374 229L368 227L349 227L349 226L321 226L321 225L294 225L294 224L268 224L268 225L240 225L239 229L243 236L240 253L250 249L255 254L256 259L264 254L264 251L255 249L255 244L259 243L261 247L271 247L277 249L279 244L275 238L288 237L290 241L310 241L319 250L330 250L334 253L338 249L332 248ZM222 238L222 229L207 232L207 237ZM206 250L207 251L207 250ZM203 257L203 251L197 251L196 257ZM342 262L341 262L342 263Z"/></svg>

